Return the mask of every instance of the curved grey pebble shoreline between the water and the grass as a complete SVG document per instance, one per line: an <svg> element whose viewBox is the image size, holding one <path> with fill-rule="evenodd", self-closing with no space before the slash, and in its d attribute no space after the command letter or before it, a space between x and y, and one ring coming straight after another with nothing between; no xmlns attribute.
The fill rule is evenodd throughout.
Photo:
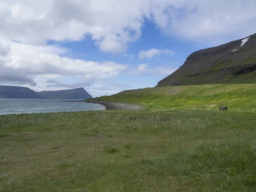
<svg viewBox="0 0 256 192"><path fill-rule="evenodd" d="M104 105L106 110L136 110L143 108L142 105L136 105L131 103L119 103L119 102L103 102L103 101L64 101L64 102L83 102L83 103L95 103Z"/></svg>

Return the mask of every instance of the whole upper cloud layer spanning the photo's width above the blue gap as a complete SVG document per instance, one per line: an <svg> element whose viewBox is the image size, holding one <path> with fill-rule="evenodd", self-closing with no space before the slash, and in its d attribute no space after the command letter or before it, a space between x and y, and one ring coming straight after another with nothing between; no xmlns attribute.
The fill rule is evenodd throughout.
<svg viewBox="0 0 256 192"><path fill-rule="evenodd" d="M2 0L0 36L25 44L89 37L104 52L123 52L149 20L167 35L216 44L254 33L255 7L254 0Z"/></svg>

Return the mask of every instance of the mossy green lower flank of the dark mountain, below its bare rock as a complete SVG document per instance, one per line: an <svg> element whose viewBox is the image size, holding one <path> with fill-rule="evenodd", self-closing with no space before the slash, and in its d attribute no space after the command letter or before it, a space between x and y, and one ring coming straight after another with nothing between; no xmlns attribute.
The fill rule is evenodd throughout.
<svg viewBox="0 0 256 192"><path fill-rule="evenodd" d="M212 60L211 57L207 57L205 60L196 60L197 62L190 63L186 65L188 68L183 67L178 69L179 73L173 73L170 76L163 79L164 81L160 81L158 83L159 86L170 86L170 85L195 85L195 84L239 84L239 83L256 83L256 71L250 73L244 73L241 75L234 75L235 71L224 70L226 67L239 66L239 65L248 65L248 64L256 64L256 52L251 53L252 55L246 55L242 49L238 49L236 54L240 53L240 56L236 55L235 58L219 58L218 60ZM245 56L246 55L246 56ZM231 56L231 55L230 55ZM243 60L240 58L244 57ZM225 56L224 56L225 57ZM215 61L217 63L215 63ZM208 65L213 64L214 65ZM194 70L197 67L204 66L198 71L191 72L190 70ZM208 67L206 67L208 66ZM185 70L186 69L186 70ZM222 71L218 71L221 70ZM210 74L204 74L204 72L209 72ZM197 74L196 76L189 76L191 74Z"/></svg>

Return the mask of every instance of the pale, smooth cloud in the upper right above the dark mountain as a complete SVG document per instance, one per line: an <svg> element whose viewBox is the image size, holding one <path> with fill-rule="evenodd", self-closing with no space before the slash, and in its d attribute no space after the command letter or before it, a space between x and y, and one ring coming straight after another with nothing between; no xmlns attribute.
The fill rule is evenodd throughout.
<svg viewBox="0 0 256 192"><path fill-rule="evenodd" d="M169 14L163 31L182 39L202 42L208 46L227 43L256 32L256 1L193 0L189 6ZM182 15L183 14L183 15Z"/></svg>

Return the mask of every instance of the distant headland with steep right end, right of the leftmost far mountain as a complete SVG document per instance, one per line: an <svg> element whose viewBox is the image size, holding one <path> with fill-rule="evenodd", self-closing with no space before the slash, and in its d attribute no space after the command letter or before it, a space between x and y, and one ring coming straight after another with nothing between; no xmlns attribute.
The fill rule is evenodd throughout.
<svg viewBox="0 0 256 192"><path fill-rule="evenodd" d="M44 99L88 99L92 96L84 88L37 92Z"/></svg>

